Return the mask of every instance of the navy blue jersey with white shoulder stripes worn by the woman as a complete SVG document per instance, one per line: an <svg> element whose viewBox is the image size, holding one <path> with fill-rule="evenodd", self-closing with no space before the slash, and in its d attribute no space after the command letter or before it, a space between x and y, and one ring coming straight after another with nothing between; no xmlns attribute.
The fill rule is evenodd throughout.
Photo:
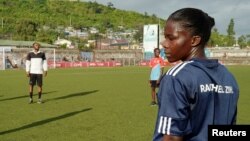
<svg viewBox="0 0 250 141"><path fill-rule="evenodd" d="M235 124L239 88L218 60L192 59L166 73L158 92L153 140L164 134L207 141L208 125Z"/></svg>

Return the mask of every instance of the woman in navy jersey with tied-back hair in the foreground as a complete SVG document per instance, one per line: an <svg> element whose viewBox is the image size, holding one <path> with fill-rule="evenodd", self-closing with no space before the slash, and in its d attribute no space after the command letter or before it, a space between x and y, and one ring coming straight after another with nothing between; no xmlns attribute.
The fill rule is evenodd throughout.
<svg viewBox="0 0 250 141"><path fill-rule="evenodd" d="M153 141L207 141L208 125L236 123L239 88L216 59L205 56L214 18L183 8L166 20L162 46L170 63L163 76Z"/></svg>

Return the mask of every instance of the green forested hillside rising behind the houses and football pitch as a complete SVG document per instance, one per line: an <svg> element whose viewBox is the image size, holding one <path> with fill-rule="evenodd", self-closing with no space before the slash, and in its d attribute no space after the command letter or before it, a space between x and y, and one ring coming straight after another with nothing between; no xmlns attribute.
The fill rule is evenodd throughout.
<svg viewBox="0 0 250 141"><path fill-rule="evenodd" d="M37 36L47 35L40 31L44 26L49 29L96 27L104 33L108 28L138 29L144 24L159 22L156 15L119 10L112 3L101 5L96 2L65 0L0 0L0 18L1 37L11 35L13 39L22 40L34 40ZM50 36L56 34L50 32ZM23 34L28 35L24 37Z"/></svg>

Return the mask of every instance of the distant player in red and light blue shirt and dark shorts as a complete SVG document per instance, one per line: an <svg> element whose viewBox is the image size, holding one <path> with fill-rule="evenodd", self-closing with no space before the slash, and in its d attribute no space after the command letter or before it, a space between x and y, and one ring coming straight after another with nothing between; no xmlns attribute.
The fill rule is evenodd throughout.
<svg viewBox="0 0 250 141"><path fill-rule="evenodd" d="M159 85L160 77L163 73L164 60L160 57L160 49L154 49L154 57L151 58L149 62L149 66L151 68L149 83L151 86L151 97L152 102L151 105L157 105L156 102L156 88Z"/></svg>

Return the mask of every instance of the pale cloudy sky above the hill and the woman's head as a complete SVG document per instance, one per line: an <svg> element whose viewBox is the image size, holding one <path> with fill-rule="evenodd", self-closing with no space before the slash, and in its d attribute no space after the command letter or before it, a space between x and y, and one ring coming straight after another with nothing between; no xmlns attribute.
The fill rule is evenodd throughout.
<svg viewBox="0 0 250 141"><path fill-rule="evenodd" d="M202 9L215 18L215 27L221 34L227 34L230 19L234 19L237 36L250 34L250 0L83 0L96 1L107 5L111 2L115 8L136 11L166 19L172 12L194 7Z"/></svg>

